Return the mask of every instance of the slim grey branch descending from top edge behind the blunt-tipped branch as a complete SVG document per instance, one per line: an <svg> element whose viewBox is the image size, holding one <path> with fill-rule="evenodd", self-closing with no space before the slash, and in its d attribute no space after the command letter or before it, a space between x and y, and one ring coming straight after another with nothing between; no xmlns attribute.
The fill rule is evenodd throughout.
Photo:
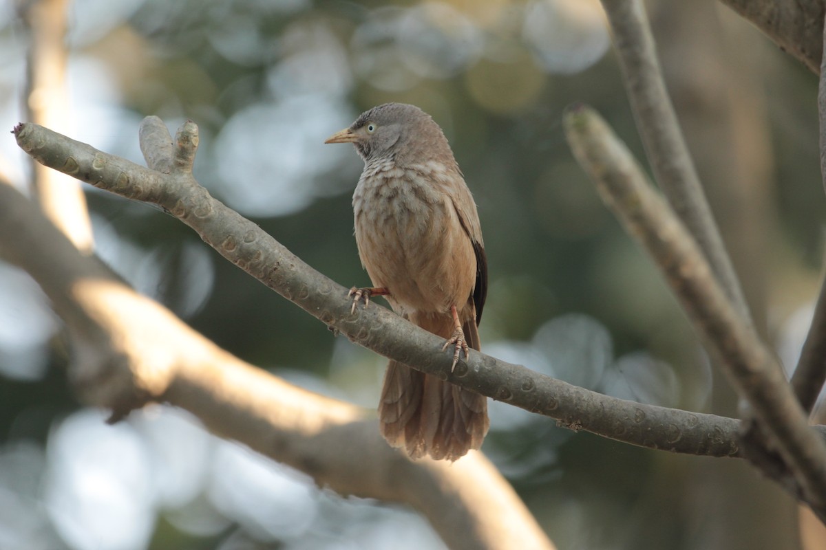
<svg viewBox="0 0 826 550"><path fill-rule="evenodd" d="M642 0L602 0L614 35L634 118L657 183L745 322L751 323L729 254L711 215L668 97Z"/></svg>

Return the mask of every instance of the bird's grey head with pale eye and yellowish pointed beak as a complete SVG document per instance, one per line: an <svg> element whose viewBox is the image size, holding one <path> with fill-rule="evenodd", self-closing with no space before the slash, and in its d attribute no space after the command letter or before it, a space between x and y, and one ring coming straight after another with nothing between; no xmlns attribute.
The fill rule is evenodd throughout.
<svg viewBox="0 0 826 550"><path fill-rule="evenodd" d="M430 115L417 106L385 103L364 111L358 119L324 143L353 143L364 162L391 159L397 164L437 160L454 163L448 140Z"/></svg>

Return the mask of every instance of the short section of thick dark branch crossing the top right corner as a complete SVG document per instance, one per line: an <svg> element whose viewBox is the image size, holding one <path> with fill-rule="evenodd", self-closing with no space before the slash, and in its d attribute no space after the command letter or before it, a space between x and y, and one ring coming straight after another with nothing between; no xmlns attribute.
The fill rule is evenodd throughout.
<svg viewBox="0 0 826 550"><path fill-rule="evenodd" d="M812 73L823 57L823 0L720 0L763 31Z"/></svg>

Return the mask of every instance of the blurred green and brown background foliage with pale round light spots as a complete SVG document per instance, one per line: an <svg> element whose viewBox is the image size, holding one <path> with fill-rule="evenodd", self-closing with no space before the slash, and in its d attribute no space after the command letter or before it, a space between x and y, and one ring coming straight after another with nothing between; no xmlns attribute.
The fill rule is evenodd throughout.
<svg viewBox="0 0 826 550"><path fill-rule="evenodd" d="M7 129L25 101L17 4L0 5ZM204 186L325 275L367 284L350 206L361 162L323 141L371 106L415 103L444 129L477 200L491 275L483 350L602 393L736 414L675 299L563 139L564 107L585 101L643 158L598 2L69 7L75 139L142 163L142 117L172 129L195 120ZM649 7L754 317L791 368L823 249L816 78L714 2ZM0 169L21 187L26 161L2 140ZM262 369L375 407L384 360L182 223L85 191L97 253L135 288ZM0 265L0 548L443 548L411 510L318 489L180 411L149 407L104 425L103 411L74 400L66 362L36 285ZM742 461L636 449L498 403L484 450L562 549L797 545L795 505Z"/></svg>

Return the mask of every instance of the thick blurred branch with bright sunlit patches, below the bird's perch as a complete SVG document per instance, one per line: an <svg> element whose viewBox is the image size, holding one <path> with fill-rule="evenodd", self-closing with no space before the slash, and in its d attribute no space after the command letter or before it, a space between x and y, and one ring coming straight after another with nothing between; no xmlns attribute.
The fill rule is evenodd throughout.
<svg viewBox="0 0 826 550"><path fill-rule="evenodd" d="M552 550L512 487L482 454L412 463L368 411L307 392L245 364L80 252L0 183L0 256L44 289L66 323L69 379L88 404L123 416L147 401L197 416L217 435L309 474L343 495L405 502L449 548Z"/></svg>

